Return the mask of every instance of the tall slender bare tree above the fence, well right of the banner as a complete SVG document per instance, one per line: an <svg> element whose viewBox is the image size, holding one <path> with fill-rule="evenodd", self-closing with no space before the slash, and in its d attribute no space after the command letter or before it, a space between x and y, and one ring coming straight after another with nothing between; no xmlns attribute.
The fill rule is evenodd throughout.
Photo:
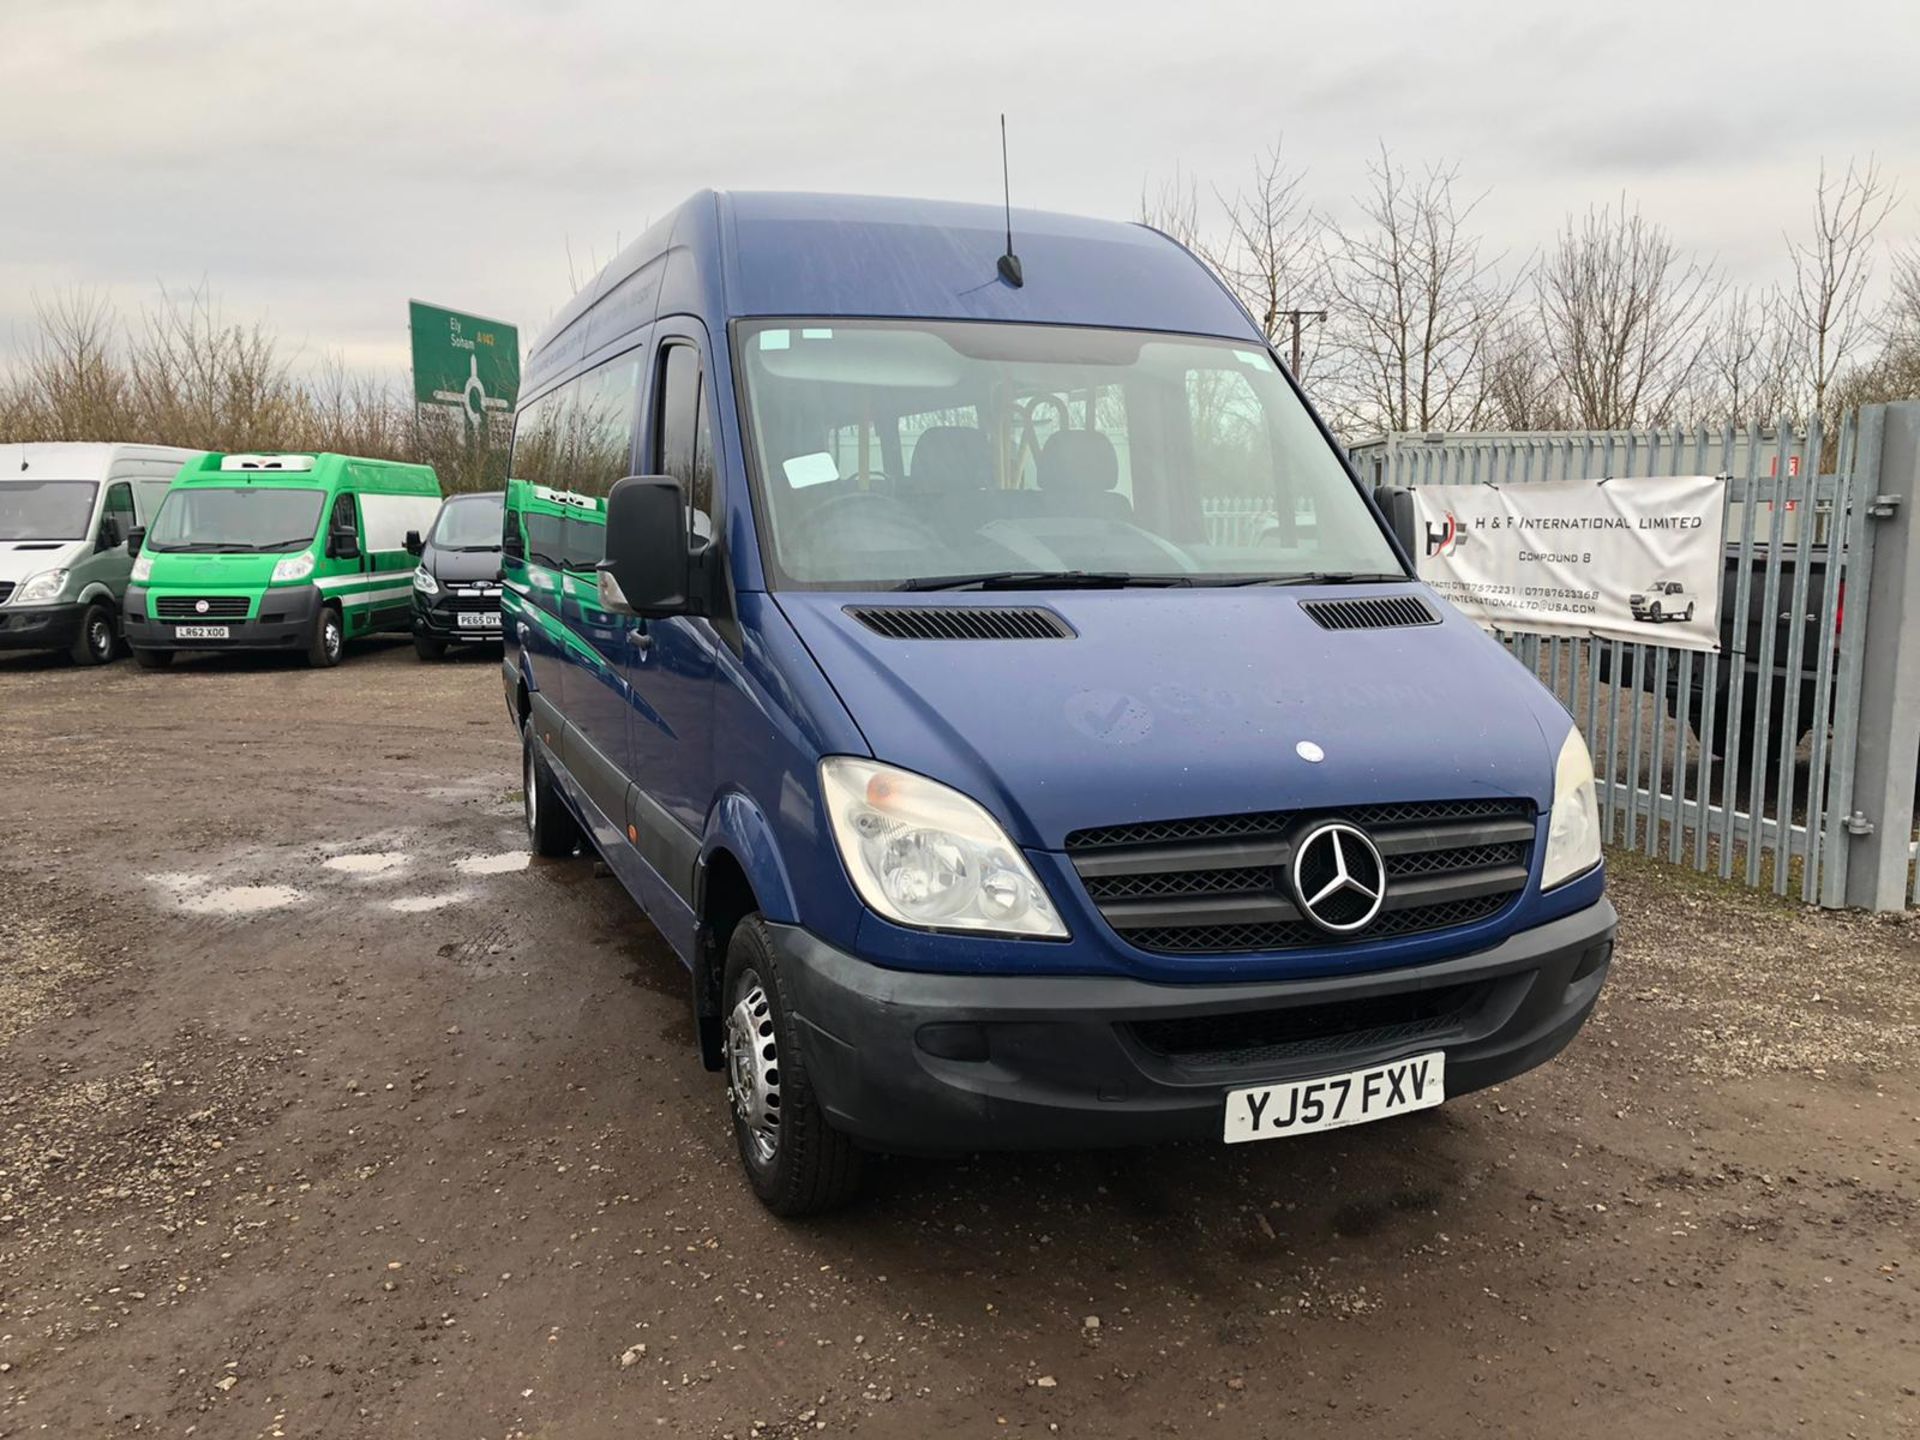
<svg viewBox="0 0 1920 1440"><path fill-rule="evenodd" d="M1828 179L1822 161L1812 236L1788 236L1788 257L1793 261L1788 315L1797 330L1803 382L1816 415L1826 415L1828 388L1872 330L1866 288L1874 275L1874 234L1893 204L1893 186L1882 180L1870 156L1864 167L1847 161L1847 173L1837 180Z"/></svg>

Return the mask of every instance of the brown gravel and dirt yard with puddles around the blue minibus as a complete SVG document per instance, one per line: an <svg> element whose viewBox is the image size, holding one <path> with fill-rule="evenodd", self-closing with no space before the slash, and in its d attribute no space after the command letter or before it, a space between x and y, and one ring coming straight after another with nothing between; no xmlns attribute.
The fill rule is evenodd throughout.
<svg viewBox="0 0 1920 1440"><path fill-rule="evenodd" d="M1546 1069L768 1217L492 657L0 660L0 1436L1920 1428L1920 937L1615 866Z"/></svg>

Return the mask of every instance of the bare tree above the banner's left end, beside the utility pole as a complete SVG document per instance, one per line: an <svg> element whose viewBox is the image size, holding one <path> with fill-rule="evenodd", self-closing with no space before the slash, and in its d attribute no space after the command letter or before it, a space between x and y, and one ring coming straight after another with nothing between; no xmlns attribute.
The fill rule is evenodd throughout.
<svg viewBox="0 0 1920 1440"><path fill-rule="evenodd" d="M1459 169L1419 179L1380 148L1361 223L1329 227L1327 286L1338 323L1346 409L1382 430L1457 430L1480 420L1488 342L1515 282L1469 230L1478 200Z"/></svg>

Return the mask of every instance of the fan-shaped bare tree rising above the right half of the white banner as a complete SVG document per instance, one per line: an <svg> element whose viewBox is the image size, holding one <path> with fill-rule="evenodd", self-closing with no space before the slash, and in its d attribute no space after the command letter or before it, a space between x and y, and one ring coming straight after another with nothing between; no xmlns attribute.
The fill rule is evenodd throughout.
<svg viewBox="0 0 1920 1440"><path fill-rule="evenodd" d="M1676 420L1720 290L1711 263L1682 255L1624 198L1619 211L1569 217L1534 273L1534 303L1572 420L1596 430Z"/></svg>

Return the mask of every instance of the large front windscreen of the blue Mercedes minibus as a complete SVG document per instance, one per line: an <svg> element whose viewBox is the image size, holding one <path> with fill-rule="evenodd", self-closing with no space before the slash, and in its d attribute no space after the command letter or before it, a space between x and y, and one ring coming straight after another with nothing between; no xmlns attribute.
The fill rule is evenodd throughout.
<svg viewBox="0 0 1920 1440"><path fill-rule="evenodd" d="M780 584L1404 576L1273 359L1073 326L737 330Z"/></svg>

